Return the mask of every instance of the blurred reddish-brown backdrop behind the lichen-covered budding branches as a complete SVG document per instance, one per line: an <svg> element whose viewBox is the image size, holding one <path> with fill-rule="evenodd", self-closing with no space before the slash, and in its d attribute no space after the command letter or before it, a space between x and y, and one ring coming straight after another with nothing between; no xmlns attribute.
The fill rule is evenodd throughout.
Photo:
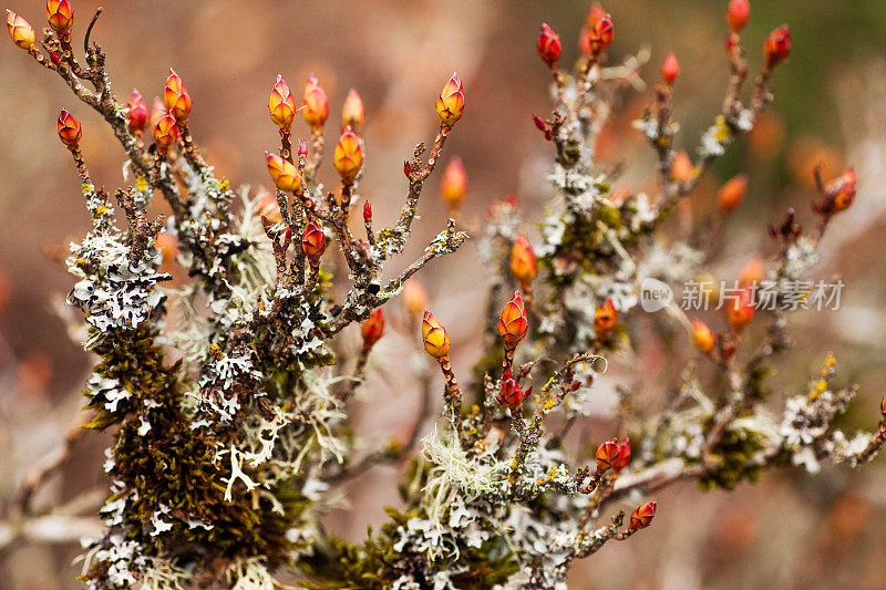
<svg viewBox="0 0 886 590"><path fill-rule="evenodd" d="M75 48L97 4L75 2ZM690 153L719 111L725 87L725 4L605 4L616 24L611 61L648 46L651 59L642 75L651 87L664 55L673 51L679 58L674 117L682 124L679 141ZM513 193L526 229L537 236L532 224L549 195L545 177L552 148L530 120L532 113L549 112L549 76L535 40L539 24L547 22L563 41L563 63L575 60L587 2L132 0L104 6L93 40L107 53L116 96L125 102L136 86L151 103L174 66L194 101L195 141L234 186L269 184L261 156L278 144L267 115L278 73L296 95L310 72L318 74L330 100L328 145L348 89L357 89L367 107L360 194L371 198L377 226L390 224L399 213L406 190L402 162L418 142L433 141L436 95L457 71L467 108L443 163L460 155L467 172L462 222L478 238L484 211ZM8 0L7 8L34 28L43 27L42 2ZM847 284L841 309L796 314L797 346L773 384L783 386L784 394L803 391L825 352L833 350L839 361L835 383L862 387L842 424L872 429L886 379L886 3L753 1L743 35L752 73L763 39L783 22L791 24L794 50L774 75L774 104L754 132L705 175L683 215L703 215L720 184L746 172L746 200L723 229L718 263L710 269L731 280L752 256L772 253L766 225L787 207L797 207L812 226L808 201L816 164L823 165L826 178L856 166L856 205L828 228L816 269L816 277L839 277ZM103 121L12 43L0 45L0 498L6 498L29 466L61 445L82 405L79 392L91 362L71 342L64 320L70 311L63 297L73 281L61 258L68 242L85 232L89 218L70 155L56 138L59 110L69 108L83 124L84 156L99 184L110 190L121 186L124 158ZM650 89L624 93L598 145L607 164L628 163L619 182L635 190L655 186L653 155L630 127L650 96ZM293 133L308 135L303 121ZM322 174L334 178L328 162ZM443 227L446 210L437 196L439 178L437 173L426 185L411 249L396 261L402 266ZM435 314L450 328L456 372L465 376L480 352L475 334L483 321L477 241L421 275ZM402 323L400 302L388 307L393 308L388 311L392 325ZM342 345L356 346L357 338L346 334ZM402 435L414 414L418 393L395 370L378 362L385 353L411 348L409 338L392 335L373 352L373 374L356 404L360 429L370 436ZM663 371L660 352L645 354L651 374ZM666 386L663 379L656 384ZM600 424L606 424L606 408L600 413ZM585 432L594 433L594 427L591 423ZM55 506L102 490L107 444L106 435L80 441L72 460L34 505ZM656 526L630 544L615 544L578 563L570 587L883 588L886 472L878 463L858 473L825 467L817 477L769 473L731 494L701 493L691 484L670 488L657 497ZM393 482L400 469L380 467L346 485L354 511L331 515L330 528L359 539L367 525L382 522L381 507L398 501ZM89 515L95 506L79 509ZM75 588L79 570L72 559L78 552L74 544L0 547L0 588Z"/></svg>

